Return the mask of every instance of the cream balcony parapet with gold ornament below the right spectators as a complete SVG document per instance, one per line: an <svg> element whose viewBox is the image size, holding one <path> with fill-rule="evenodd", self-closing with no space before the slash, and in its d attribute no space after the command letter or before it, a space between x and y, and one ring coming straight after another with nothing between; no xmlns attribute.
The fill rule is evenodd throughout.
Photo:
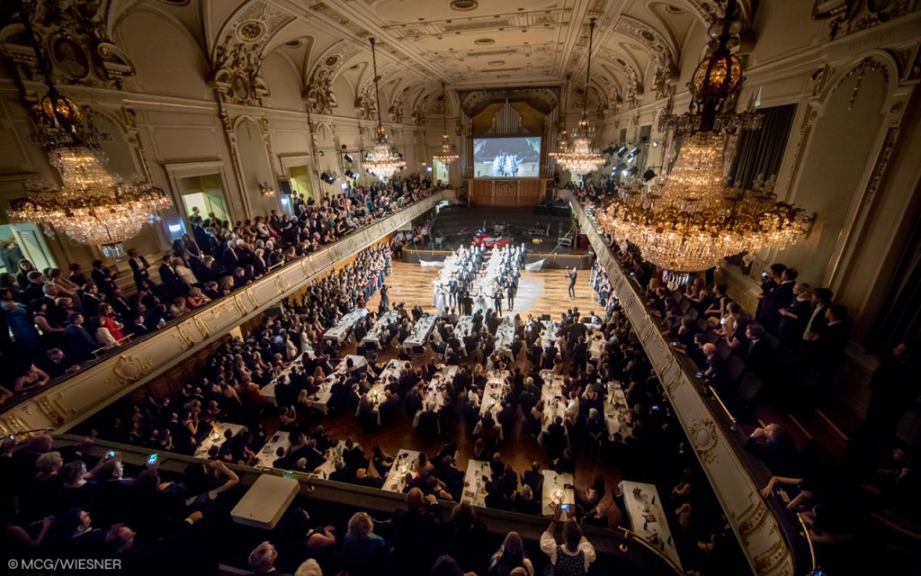
<svg viewBox="0 0 921 576"><path fill-rule="evenodd" d="M744 448L737 420L717 395L707 394L696 367L676 355L647 308L641 287L624 273L594 217L571 201L579 225L608 274L614 293L647 353L659 382L705 470L742 550L757 574L795 576L812 567L809 546L782 506L765 502L759 487L770 478Z"/></svg>

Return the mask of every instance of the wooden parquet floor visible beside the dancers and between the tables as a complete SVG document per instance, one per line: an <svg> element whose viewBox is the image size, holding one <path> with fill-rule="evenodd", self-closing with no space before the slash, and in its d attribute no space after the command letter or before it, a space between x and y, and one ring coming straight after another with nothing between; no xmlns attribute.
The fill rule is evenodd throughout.
<svg viewBox="0 0 921 576"><path fill-rule="evenodd" d="M387 284L391 287L391 305L404 301L407 308L411 308L414 304L419 303L425 312L434 312L431 283L437 276L437 271L437 268L422 268L418 264L394 263L393 273L387 278ZM566 309L577 306L580 312L594 310L603 315L600 305L597 301L592 300L593 292L589 284L589 278L589 270L579 271L576 286L577 299L568 300L566 296L568 280L565 278L563 271L523 272L519 281L519 294L513 313L521 313L522 315L531 313L535 316L550 314L556 318ZM379 294L376 294L368 301L367 308L377 310L378 304ZM343 353L353 353L355 347L354 340L350 341L344 346ZM431 352L427 351L423 357L416 357L414 364L418 365L422 362L427 362L430 354ZM380 355L380 358L384 360L394 357L395 352L393 350ZM529 366L526 364L527 360L521 359L517 365L522 370L527 371ZM395 422L382 429L364 429L356 424L354 415L345 413L332 417L317 417L315 421L311 421L309 424L311 426L323 424L324 429L332 434L333 438L352 436L352 438L361 443L367 452L374 446L380 446L384 452L391 454L397 453L401 448L413 448L415 450L424 450L427 453L436 453L444 445L444 441L426 440L414 435L411 423L404 413L401 413ZM472 457L474 440L471 432L472 430L467 429L462 417L459 418L455 429L446 431L446 435L458 444L459 461L457 464L461 470L467 469L467 462ZM589 449L578 441L573 443L577 460L577 486L586 487L596 475L604 476L607 480L608 490L604 500L601 502L601 507L602 509L609 507L609 523L612 526L621 523L622 519L617 507L609 506L612 504L612 488L623 477L620 463L606 459L597 449ZM533 462L541 464L544 468L551 467L551 463L542 447L524 429L520 413L518 425L505 441L500 442L498 451L502 454L503 460L512 464L519 473L529 469Z"/></svg>

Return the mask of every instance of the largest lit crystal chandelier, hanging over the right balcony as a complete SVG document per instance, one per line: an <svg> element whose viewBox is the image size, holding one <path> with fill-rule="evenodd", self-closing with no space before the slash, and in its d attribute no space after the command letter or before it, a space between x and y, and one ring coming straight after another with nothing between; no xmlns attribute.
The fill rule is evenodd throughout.
<svg viewBox="0 0 921 576"><path fill-rule="evenodd" d="M727 6L729 20L734 4L730 0ZM723 177L724 145L715 127L716 112L739 87L742 71L738 59L727 60L722 53L733 29L738 30L724 20L717 51L697 68L712 77L694 74L690 88L701 111L698 130L685 138L670 175L648 185L641 179L622 183L599 213L600 225L615 241L635 244L643 258L670 276L707 270L738 253L751 263L760 250L779 250L797 241L814 221L803 209L777 201L773 179L740 189L727 186ZM727 65L713 65L715 60Z"/></svg>

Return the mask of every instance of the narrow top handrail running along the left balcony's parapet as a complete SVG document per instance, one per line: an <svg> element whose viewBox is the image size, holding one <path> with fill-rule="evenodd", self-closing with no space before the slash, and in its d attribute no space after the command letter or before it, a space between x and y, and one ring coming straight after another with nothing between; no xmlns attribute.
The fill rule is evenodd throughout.
<svg viewBox="0 0 921 576"><path fill-rule="evenodd" d="M408 204L408 205L402 206L402 207L400 207L399 209L394 210L393 212L389 213L389 214L388 214L387 216L385 216L385 217L381 217L381 218L378 218L378 219L376 219L376 220L373 220L372 222L370 222L370 223L367 224L366 226L363 226L363 227L361 227L361 228L359 228L359 229L351 230L348 234L344 235L342 238L339 238L339 239L337 239L337 240L334 241L334 242L330 242L329 244L326 244L325 246L322 246L320 250L317 250L317 251L315 251L315 252L311 252L311 253L304 254L303 256L298 256L297 258L294 258L294 259L292 259L292 260L288 260L288 261L285 261L285 262L280 262L280 263L278 263L278 264L274 264L274 266L271 266L270 268L268 268L268 269L266 270L265 274L263 274L262 276L259 276L259 278L257 278L257 280L261 280L262 278L266 278L266 277L268 277L268 276L271 276L271 275L273 275L274 273L277 273L277 272L280 272L280 271L282 271L282 270L285 270L286 268L288 268L288 267L290 267L290 266L297 265L299 262L303 261L305 258L314 257L314 256L317 256L317 255L319 255L319 254L325 253L325 252L327 252L327 251L329 251L329 250L332 250L332 249L333 249L337 244L339 244L340 242L343 242L343 241L346 241L346 240L350 239L351 237L355 236L356 234L359 234L359 233L361 233L362 231L364 231L364 230L370 228L371 226L374 226L375 224L377 224L377 223L380 222L381 220L383 220L383 219L385 219L385 218L397 216L397 215L399 215L400 213L402 213L404 210L407 210L407 209L409 209L409 208L415 206L415 205L418 204L419 202L424 202L424 201L426 201L428 198L430 198L433 194L437 194L437 193L442 192L442 191L444 191L444 190L451 190L451 188L450 188L450 186L448 186L448 187L440 187L440 188L437 187L437 186L433 186L433 187L429 188L428 190L426 190L426 193L428 193L428 194L426 194L426 196L425 196L424 198L420 198L419 200L416 200L416 201L415 201L414 203L412 203L412 204ZM243 287L240 287L240 288L243 288ZM6 411L8 411L8 410L10 410L10 409L12 409L12 408L15 408L16 406L22 404L23 402L28 401L29 398L32 398L33 396L35 396L35 395L37 395L37 394L41 394L41 391L48 390L49 387L52 387L52 386L57 385L57 384L60 384L60 383L62 383L62 382L66 382L66 381L70 380L71 378L74 378L74 377L75 377L77 374L79 374L80 372L82 372L82 371L84 371L84 370L87 370L87 369L89 369L89 368L92 368L92 367L94 367L94 366L97 366L97 365L99 365L100 363L105 362L106 360L113 358L113 357L116 355L116 353L124 353L126 350L128 350L128 349L130 349L130 348L136 346L137 344L139 344L139 343L141 343L141 342L144 342L144 341L147 340L148 338L151 338L151 337L157 335L158 332L161 332L161 331L163 331L163 330L165 330L165 329L167 329L167 328L170 328L170 327L172 327L172 326L175 326L175 325L177 325L177 324L179 324L179 323L182 323L182 322L188 320L188 319L191 318L192 315L194 315L194 314L197 314L197 313L199 313L199 312L207 311L207 310L209 310L209 309L211 309L211 308L214 308L216 305L218 305L218 304L220 304L220 303L222 303L222 302L226 302L228 299L233 298L233 296L234 296L235 294L237 294L237 293L239 293L239 290L234 290L234 291L230 292L229 294L226 294L226 295L222 296L221 298L217 298L217 299L214 299L214 300L210 300L209 302L205 303L204 306L200 306L199 308L196 308L195 310L190 311L189 313L182 314L182 315L181 315L180 317L178 317L178 318L171 318L171 319L169 320L169 322L164 323L164 324L163 324L162 326L160 326L157 330L153 330L153 331L151 331L151 332L148 332L148 333L145 334L145 335L141 335L141 336L139 336L139 337L134 337L134 335L126 335L126 336L123 336L122 339L119 340L119 342L120 342L120 343L121 343L121 342L127 342L127 346L116 346L116 347L109 347L109 348L107 348L107 347L99 347L99 348L96 348L95 350L93 350L93 355L94 355L96 358L89 359L89 360L87 360L87 361L85 361L85 362L81 362L81 363L80 363L80 370L77 370L76 372L68 372L68 373L65 373L65 374L62 375L62 376L59 376L59 377L57 377L57 378L53 378L51 381L49 381L47 384L45 384L45 385L42 386L41 388L30 388L29 390L27 390L27 391L25 391L25 392L23 392L23 393L15 394L12 398L10 398L10 399L6 402L6 404L4 404L4 405L2 406L2 411L0 411L0 414L2 414L3 412L6 412ZM101 356L100 356L100 354L101 354Z"/></svg>

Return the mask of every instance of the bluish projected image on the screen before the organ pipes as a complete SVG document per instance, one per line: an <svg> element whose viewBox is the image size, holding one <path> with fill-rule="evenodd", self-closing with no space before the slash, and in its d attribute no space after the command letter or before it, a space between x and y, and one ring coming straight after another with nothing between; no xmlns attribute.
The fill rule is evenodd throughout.
<svg viewBox="0 0 921 576"><path fill-rule="evenodd" d="M541 138L476 138L476 178L537 178L541 173Z"/></svg>

